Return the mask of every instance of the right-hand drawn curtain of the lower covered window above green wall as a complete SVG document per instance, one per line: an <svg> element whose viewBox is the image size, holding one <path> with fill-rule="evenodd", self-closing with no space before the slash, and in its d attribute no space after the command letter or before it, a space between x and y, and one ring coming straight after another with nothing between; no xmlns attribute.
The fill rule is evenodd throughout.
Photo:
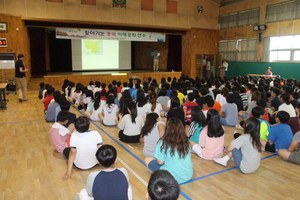
<svg viewBox="0 0 300 200"><path fill-rule="evenodd" d="M238 51L236 61L256 61L257 60L258 39L238 41Z"/></svg>

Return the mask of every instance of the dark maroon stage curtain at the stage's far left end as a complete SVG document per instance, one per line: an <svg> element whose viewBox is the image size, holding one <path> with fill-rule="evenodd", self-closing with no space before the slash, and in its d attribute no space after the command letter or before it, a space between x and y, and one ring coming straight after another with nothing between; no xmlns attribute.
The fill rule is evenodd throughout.
<svg viewBox="0 0 300 200"><path fill-rule="evenodd" d="M30 38L31 74L46 75L45 28L28 27L28 29Z"/></svg>

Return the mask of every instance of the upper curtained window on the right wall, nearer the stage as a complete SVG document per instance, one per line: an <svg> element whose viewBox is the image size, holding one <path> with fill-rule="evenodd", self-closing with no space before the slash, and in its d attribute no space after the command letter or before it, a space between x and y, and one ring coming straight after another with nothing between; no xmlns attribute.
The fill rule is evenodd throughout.
<svg viewBox="0 0 300 200"><path fill-rule="evenodd" d="M259 8L222 15L219 18L220 29L251 26L256 24L259 24Z"/></svg>

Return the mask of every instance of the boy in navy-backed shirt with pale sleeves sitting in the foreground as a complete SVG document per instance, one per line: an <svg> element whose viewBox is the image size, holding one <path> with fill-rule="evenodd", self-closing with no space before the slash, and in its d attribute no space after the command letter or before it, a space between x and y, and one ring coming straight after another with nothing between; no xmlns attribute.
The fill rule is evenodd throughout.
<svg viewBox="0 0 300 200"><path fill-rule="evenodd" d="M96 158L101 166L100 171L91 172L86 181L86 189L82 189L80 199L132 199L132 190L129 184L129 176L124 168L116 168L118 161L117 150L105 144L96 152ZM78 198L77 198L78 199Z"/></svg>

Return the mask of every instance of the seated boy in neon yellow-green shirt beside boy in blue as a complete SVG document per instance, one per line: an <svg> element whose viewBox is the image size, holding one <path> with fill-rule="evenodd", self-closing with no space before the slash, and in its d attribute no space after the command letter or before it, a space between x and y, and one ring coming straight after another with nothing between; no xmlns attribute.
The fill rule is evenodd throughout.
<svg viewBox="0 0 300 200"><path fill-rule="evenodd" d="M263 118L265 117L265 110L260 106L254 107L252 109L252 115L260 122L260 131L259 131L260 139L264 141L268 141L267 137L271 132L271 127L268 122L263 120ZM233 136L236 139L240 135L241 135L240 133L235 133Z"/></svg>

